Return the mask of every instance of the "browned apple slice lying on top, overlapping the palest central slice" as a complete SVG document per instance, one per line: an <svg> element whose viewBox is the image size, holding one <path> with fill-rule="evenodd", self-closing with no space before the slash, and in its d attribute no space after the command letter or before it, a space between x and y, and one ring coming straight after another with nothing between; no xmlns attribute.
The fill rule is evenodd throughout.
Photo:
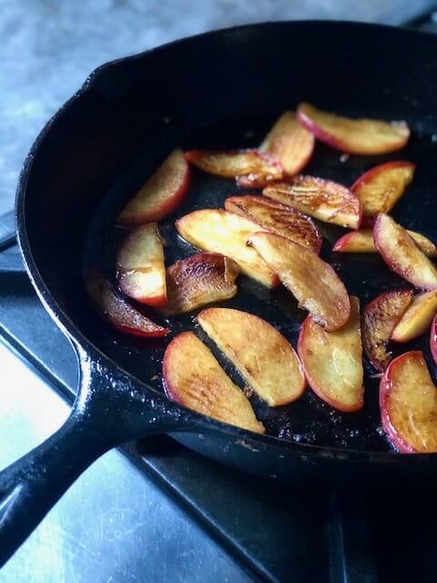
<svg viewBox="0 0 437 583"><path fill-rule="evenodd" d="M351 302L343 282L314 251L270 232L254 233L249 243L315 322L330 332L349 320Z"/></svg>

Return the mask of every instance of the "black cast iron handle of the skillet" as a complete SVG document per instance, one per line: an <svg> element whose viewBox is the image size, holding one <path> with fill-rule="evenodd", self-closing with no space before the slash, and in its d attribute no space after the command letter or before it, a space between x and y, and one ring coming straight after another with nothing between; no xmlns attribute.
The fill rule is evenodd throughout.
<svg viewBox="0 0 437 583"><path fill-rule="evenodd" d="M0 473L0 568L86 467L111 447L90 421L73 410L54 435Z"/></svg>

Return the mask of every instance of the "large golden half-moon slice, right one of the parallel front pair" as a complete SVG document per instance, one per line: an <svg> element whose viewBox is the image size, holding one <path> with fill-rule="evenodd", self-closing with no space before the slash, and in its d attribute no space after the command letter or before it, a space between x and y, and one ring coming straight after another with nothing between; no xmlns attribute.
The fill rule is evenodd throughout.
<svg viewBox="0 0 437 583"><path fill-rule="evenodd" d="M203 310L197 320L270 407L291 403L303 393L305 377L298 355L269 322L229 308Z"/></svg>

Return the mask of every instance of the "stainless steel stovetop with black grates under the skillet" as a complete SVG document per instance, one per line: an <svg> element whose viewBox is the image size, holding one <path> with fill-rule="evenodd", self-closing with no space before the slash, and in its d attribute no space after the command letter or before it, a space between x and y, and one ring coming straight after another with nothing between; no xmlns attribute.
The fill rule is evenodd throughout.
<svg viewBox="0 0 437 583"><path fill-rule="evenodd" d="M429 15L411 26L437 32ZM75 353L20 261L15 245L0 253L0 269L7 267L0 334L28 365L2 388L2 465L62 423L77 382ZM5 373L15 356L3 350ZM436 524L433 496L420 488L381 484L347 496L317 485L302 490L244 475L159 436L109 452L86 470L0 579L431 582Z"/></svg>

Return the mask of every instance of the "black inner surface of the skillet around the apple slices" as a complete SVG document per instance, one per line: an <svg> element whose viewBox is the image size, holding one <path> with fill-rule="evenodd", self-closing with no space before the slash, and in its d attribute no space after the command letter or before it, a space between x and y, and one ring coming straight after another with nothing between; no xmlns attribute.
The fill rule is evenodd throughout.
<svg viewBox="0 0 437 583"><path fill-rule="evenodd" d="M18 199L18 212L20 204L24 210L21 242L32 252L31 271L38 280L41 276L52 310L67 328L73 326L120 366L161 390L160 363L168 340L129 339L100 322L86 301L82 269L97 262L113 276L114 250L126 232L112 227L117 212L171 148L256 146L279 114L300 100L351 116L408 121L412 139L399 153L341 162L340 152L318 144L305 172L350 185L388 159L416 162L415 179L393 216L437 240L436 40L380 26L282 23L188 39L97 70L39 138L35 159L28 160L25 197ZM162 223L168 264L194 251L178 240L176 216L219 207L238 190L232 181L194 172L188 199ZM322 255L335 262L349 292L362 303L384 289L404 286L376 255L332 254L331 242L343 231L323 229ZM296 346L304 312L289 292L269 292L240 279L238 295L226 305L258 313ZM194 325L191 315L170 322L173 334ZM429 357L425 338L413 346ZM310 392L275 410L257 399L254 405L270 435L389 451L379 431L378 381L369 378L371 369L367 372L366 405L358 414L337 414Z"/></svg>

